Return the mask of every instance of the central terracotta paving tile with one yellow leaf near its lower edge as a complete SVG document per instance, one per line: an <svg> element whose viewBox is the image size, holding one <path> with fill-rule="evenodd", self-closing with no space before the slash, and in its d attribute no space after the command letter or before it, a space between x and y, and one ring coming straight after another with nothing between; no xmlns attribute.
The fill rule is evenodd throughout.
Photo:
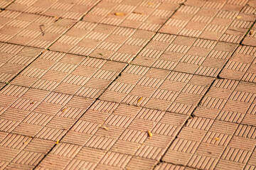
<svg viewBox="0 0 256 170"><path fill-rule="evenodd" d="M153 74L155 72L158 74ZM130 83L129 77L132 78ZM189 114L212 81L211 78L193 74L129 65L100 98L132 106ZM184 110L176 108L181 105Z"/></svg>

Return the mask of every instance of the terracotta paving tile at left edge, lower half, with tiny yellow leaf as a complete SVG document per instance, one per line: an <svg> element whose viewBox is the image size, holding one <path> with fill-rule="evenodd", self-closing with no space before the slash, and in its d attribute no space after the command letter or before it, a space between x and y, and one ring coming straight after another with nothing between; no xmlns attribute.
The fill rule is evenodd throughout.
<svg viewBox="0 0 256 170"><path fill-rule="evenodd" d="M94 99L8 85L1 91L1 131L60 140Z"/></svg>

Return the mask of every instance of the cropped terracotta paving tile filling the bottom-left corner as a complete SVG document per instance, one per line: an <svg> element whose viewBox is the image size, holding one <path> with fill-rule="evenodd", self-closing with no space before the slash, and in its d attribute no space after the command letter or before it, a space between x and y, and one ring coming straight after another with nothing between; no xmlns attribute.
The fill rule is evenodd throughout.
<svg viewBox="0 0 256 170"><path fill-rule="evenodd" d="M6 162L1 168L6 166L6 169L33 169L54 145L54 142L22 135L3 135L5 137L0 142L1 152L6 154L2 154L0 159L1 162Z"/></svg>

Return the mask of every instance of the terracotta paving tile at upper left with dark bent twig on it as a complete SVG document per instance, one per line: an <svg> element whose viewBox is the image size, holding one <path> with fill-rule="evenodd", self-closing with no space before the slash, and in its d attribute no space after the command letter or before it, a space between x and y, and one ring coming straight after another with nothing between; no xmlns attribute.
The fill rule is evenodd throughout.
<svg viewBox="0 0 256 170"><path fill-rule="evenodd" d="M1 42L40 48L47 48L75 23L66 18L9 10L1 11L0 18Z"/></svg>

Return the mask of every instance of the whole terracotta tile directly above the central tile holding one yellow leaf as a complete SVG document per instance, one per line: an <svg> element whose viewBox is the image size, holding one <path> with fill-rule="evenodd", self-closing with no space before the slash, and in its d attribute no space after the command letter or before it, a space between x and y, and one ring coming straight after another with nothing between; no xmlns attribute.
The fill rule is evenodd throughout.
<svg viewBox="0 0 256 170"><path fill-rule="evenodd" d="M235 47L215 40L157 33L132 64L216 77Z"/></svg>

